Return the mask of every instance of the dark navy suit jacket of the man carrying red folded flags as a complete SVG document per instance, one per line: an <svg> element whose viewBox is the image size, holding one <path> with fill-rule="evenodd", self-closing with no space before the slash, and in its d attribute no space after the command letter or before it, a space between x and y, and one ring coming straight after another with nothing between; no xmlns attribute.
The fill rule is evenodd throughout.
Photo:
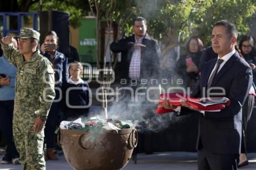
<svg viewBox="0 0 256 170"><path fill-rule="evenodd" d="M217 61L212 59L205 63L201 72L200 94L194 97L203 97L203 88L207 86L210 74ZM202 146L209 153L238 154L241 150L242 132L242 105L248 96L252 85L252 71L248 63L236 52L223 65L212 81L211 87L222 87L224 96L230 100L230 105L220 112L205 111L200 113L198 125L197 149ZM221 93L212 90L211 93ZM207 96L206 96L207 97ZM210 96L218 97L218 96ZM196 113L188 108L181 108L180 115Z"/></svg>

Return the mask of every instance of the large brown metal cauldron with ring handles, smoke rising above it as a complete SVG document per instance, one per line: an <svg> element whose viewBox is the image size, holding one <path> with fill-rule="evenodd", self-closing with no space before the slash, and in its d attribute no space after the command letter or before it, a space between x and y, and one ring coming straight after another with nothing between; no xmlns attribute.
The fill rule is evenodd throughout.
<svg viewBox="0 0 256 170"><path fill-rule="evenodd" d="M67 162L77 170L123 168L136 147L136 129L94 131L61 129L58 143Z"/></svg>

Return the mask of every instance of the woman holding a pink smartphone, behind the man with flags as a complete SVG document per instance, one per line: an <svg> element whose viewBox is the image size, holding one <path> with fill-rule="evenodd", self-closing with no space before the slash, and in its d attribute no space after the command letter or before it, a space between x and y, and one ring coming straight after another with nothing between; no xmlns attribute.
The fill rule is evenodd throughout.
<svg viewBox="0 0 256 170"><path fill-rule="evenodd" d="M190 93L196 88L198 80L198 65L203 50L203 42L197 36L193 36L187 43L186 55L180 56L176 64L176 72L183 79L183 86L190 87Z"/></svg>

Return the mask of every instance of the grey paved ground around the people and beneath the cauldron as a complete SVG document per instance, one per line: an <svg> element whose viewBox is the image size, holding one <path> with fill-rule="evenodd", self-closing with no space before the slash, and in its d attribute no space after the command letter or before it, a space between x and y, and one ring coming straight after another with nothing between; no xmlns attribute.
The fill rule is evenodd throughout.
<svg viewBox="0 0 256 170"><path fill-rule="evenodd" d="M0 154L2 159L4 153ZM66 162L64 156L58 156L57 161L46 161L47 170L71 170L72 168ZM256 169L256 153L248 154L250 165L242 170L255 170ZM196 153L192 152L156 152L153 155L138 154L137 164L131 160L123 170L196 170L197 160ZM20 170L21 165L0 165L1 170Z"/></svg>

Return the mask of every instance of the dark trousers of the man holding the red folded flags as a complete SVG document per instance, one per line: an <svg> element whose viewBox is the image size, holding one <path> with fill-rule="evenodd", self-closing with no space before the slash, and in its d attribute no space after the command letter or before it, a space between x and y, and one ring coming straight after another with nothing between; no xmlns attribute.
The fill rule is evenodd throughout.
<svg viewBox="0 0 256 170"><path fill-rule="evenodd" d="M202 147L197 155L198 170L237 170L239 154L208 153Z"/></svg>

